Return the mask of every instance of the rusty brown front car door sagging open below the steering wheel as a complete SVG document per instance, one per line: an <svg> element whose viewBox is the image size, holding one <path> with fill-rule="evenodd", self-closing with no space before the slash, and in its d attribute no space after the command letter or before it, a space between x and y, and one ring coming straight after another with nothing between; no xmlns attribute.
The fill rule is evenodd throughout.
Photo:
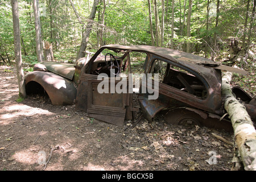
<svg viewBox="0 0 256 182"><path fill-rule="evenodd" d="M133 118L133 100L126 84L123 84L125 88L122 88L126 92L116 92L115 89L120 87L121 80L122 78L105 77L105 84L102 86L103 80L98 79L98 76L82 74L77 91L76 108L85 110L88 117L122 126L125 119ZM108 91L102 93L99 89Z"/></svg>

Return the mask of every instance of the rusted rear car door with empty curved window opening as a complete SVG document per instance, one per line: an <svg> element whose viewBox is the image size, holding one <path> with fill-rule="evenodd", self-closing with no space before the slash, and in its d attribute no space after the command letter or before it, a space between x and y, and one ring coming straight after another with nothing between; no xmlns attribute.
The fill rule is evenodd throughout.
<svg viewBox="0 0 256 182"><path fill-rule="evenodd" d="M139 104L148 121L155 117L156 113L164 108L197 107L209 109L209 87L198 77L192 75L189 69L186 71L179 65L158 56L152 56L148 62L152 74L152 84L148 85L146 93L139 94ZM156 79L157 78L157 79ZM157 80L157 81L156 81ZM148 79L147 79L148 82ZM155 86L157 83L157 86ZM149 99L152 94L148 90L158 92L158 98ZM151 92L152 93L152 92ZM213 103L213 102L211 102Z"/></svg>

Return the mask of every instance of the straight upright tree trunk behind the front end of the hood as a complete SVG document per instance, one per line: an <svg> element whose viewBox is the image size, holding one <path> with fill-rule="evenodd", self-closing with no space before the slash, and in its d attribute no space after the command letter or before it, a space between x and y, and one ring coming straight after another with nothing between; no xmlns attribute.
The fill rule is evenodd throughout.
<svg viewBox="0 0 256 182"><path fill-rule="evenodd" d="M35 15L35 32L36 32L36 55L38 56L38 62L44 61L43 55L43 43L42 43L42 32L39 18L39 7L38 0L33 0L33 8Z"/></svg>

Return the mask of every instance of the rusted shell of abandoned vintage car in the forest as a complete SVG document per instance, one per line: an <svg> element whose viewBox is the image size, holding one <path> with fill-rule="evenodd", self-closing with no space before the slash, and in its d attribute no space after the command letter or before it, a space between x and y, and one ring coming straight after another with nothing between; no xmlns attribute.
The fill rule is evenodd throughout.
<svg viewBox="0 0 256 182"><path fill-rule="evenodd" d="M139 92L129 92L127 86L133 79L136 56L144 59L141 73L147 79L142 79L141 85L148 82L148 78L152 81L151 86L144 83L147 92L142 92L142 86ZM228 118L219 122L225 114L221 70L246 74L242 69L173 49L119 45L101 47L89 60L82 58L76 64L43 62L35 65L34 70L25 78L27 94L45 90L53 105L75 104L76 109L85 110L89 117L101 121L122 126L125 119L134 119L134 112L141 109L148 121L164 111L168 123L220 128L231 126ZM105 84L103 88L102 80L112 84ZM120 86L121 80L127 82L121 86L127 92L98 92L100 85L102 89L111 90L112 86ZM158 97L150 100L148 96L152 95L153 88ZM233 92L255 121L255 99L238 87ZM139 106L135 107L134 102Z"/></svg>

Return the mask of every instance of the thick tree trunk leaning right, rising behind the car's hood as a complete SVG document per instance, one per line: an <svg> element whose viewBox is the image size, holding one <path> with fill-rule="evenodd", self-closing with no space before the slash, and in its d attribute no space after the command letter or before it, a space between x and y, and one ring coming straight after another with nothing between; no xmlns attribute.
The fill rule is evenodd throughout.
<svg viewBox="0 0 256 182"><path fill-rule="evenodd" d="M85 56L85 49L86 49L87 43L89 41L90 31L92 30L93 20L95 18L98 2L99 2L99 0L94 0L94 2L93 2L92 11L90 12L85 31L82 32L83 38L82 38L81 46L79 49L79 53L77 54L76 60L79 60L80 58Z"/></svg>

